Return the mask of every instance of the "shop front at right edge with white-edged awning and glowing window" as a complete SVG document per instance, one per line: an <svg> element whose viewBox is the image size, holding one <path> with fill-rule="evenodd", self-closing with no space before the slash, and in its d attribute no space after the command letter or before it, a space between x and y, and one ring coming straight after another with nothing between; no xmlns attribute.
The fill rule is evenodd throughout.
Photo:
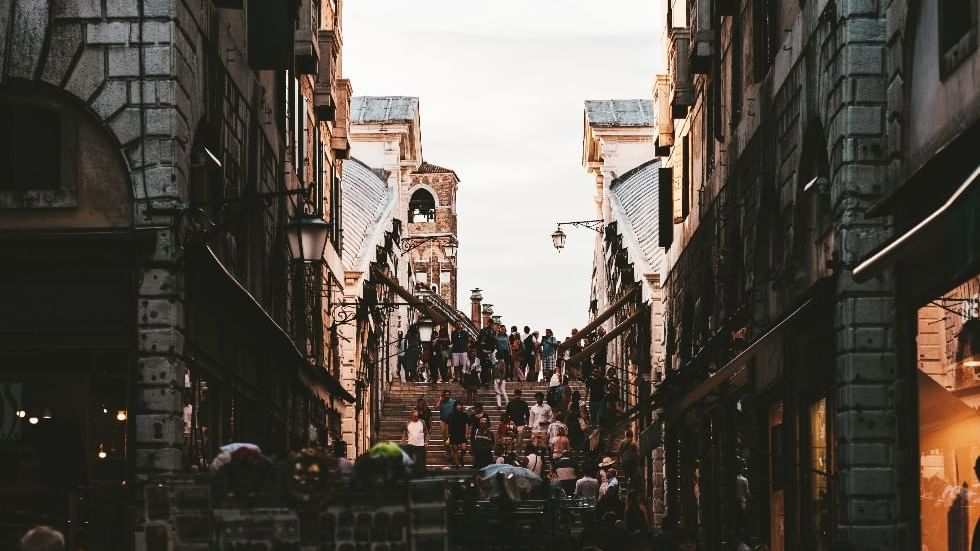
<svg viewBox="0 0 980 551"><path fill-rule="evenodd" d="M980 123L905 180L874 214L895 228L855 268L859 282L896 283L897 399L903 520L921 548L980 542Z"/></svg>

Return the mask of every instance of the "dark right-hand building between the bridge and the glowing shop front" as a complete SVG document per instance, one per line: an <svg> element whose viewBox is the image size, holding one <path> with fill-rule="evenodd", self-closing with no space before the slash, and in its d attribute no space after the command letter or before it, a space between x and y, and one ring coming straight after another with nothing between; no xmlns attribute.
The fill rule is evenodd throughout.
<svg viewBox="0 0 980 551"><path fill-rule="evenodd" d="M668 6L667 512L709 547L913 548L897 466L884 3Z"/></svg>

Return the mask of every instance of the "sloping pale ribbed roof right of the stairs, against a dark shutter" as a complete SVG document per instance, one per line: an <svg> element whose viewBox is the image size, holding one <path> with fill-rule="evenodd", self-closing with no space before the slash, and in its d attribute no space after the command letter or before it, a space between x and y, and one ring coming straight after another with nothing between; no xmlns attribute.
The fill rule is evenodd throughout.
<svg viewBox="0 0 980 551"><path fill-rule="evenodd" d="M664 185L669 185L665 183ZM660 161L653 159L616 178L609 186L613 218L619 222L626 247L644 272L662 273L664 251L660 247Z"/></svg>

